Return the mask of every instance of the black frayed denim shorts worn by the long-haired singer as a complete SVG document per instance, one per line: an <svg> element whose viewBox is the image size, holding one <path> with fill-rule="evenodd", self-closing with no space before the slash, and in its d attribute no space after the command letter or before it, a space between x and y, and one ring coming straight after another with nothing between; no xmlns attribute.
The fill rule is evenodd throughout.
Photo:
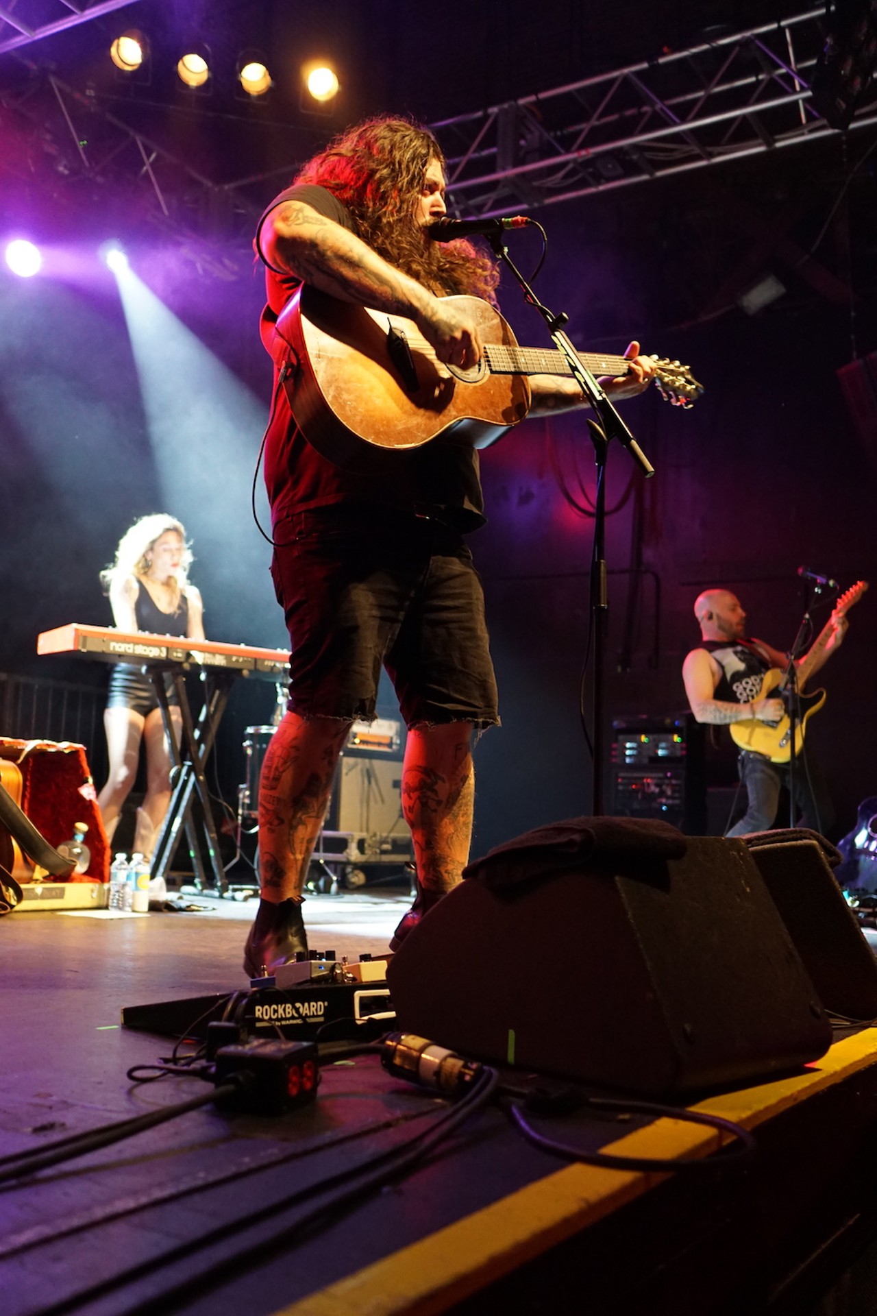
<svg viewBox="0 0 877 1316"><path fill-rule="evenodd" d="M385 667L408 726L498 722L484 594L458 530L393 508L333 507L296 513L273 538L291 708L372 719Z"/></svg>

